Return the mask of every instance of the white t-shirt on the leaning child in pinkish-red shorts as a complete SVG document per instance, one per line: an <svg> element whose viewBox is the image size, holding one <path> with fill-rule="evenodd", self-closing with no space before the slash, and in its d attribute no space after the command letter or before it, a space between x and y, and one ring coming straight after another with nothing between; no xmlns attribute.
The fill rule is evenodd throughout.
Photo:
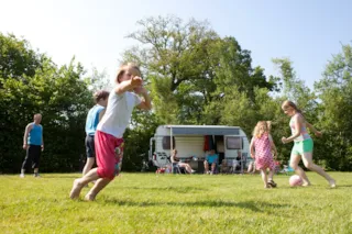
<svg viewBox="0 0 352 234"><path fill-rule="evenodd" d="M97 130L122 138L125 129L130 124L134 107L141 102L140 97L134 92L118 94L113 89L109 94L106 113Z"/></svg>

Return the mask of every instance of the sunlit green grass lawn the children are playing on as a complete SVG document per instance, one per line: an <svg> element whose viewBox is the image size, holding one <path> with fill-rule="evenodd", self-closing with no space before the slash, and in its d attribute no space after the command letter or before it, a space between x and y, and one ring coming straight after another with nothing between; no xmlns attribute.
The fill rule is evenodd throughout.
<svg viewBox="0 0 352 234"><path fill-rule="evenodd" d="M78 174L42 176L0 176L0 233L352 233L351 172L266 190L260 175L124 172L95 202L68 198Z"/></svg>

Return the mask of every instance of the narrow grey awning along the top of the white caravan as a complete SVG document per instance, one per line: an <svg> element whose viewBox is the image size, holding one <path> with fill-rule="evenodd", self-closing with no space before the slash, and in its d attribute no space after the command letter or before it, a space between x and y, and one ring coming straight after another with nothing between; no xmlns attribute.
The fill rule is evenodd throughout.
<svg viewBox="0 0 352 234"><path fill-rule="evenodd" d="M239 127L227 126L166 126L173 135L240 135Z"/></svg>

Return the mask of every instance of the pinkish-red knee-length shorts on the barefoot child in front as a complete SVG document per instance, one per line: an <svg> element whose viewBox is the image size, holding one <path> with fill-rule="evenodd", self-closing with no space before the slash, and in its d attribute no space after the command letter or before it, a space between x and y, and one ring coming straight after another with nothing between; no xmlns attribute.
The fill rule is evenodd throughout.
<svg viewBox="0 0 352 234"><path fill-rule="evenodd" d="M120 172L119 164L123 157L123 138L97 131L95 146L98 176L112 180Z"/></svg>

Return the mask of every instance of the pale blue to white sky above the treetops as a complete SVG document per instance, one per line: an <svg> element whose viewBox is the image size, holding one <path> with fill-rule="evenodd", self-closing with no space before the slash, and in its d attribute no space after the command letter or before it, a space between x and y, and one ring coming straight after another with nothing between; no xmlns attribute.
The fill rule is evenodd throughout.
<svg viewBox="0 0 352 234"><path fill-rule="evenodd" d="M112 78L136 21L174 14L207 20L220 36L234 36L253 65L277 75L272 58L288 57L312 88L341 43L352 42L349 0L0 0L0 32L23 36L58 65L75 55L87 70Z"/></svg>

